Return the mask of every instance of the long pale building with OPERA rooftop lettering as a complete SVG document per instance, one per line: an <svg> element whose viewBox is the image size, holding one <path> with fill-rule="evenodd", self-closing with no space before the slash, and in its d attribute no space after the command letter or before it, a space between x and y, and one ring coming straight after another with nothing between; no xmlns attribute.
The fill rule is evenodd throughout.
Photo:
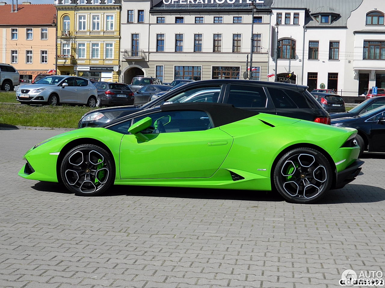
<svg viewBox="0 0 385 288"><path fill-rule="evenodd" d="M251 2L219 2L123 0L120 81L131 83L138 75L165 83L179 78L243 79L251 49ZM258 2L253 78L266 80L270 9Z"/></svg>

